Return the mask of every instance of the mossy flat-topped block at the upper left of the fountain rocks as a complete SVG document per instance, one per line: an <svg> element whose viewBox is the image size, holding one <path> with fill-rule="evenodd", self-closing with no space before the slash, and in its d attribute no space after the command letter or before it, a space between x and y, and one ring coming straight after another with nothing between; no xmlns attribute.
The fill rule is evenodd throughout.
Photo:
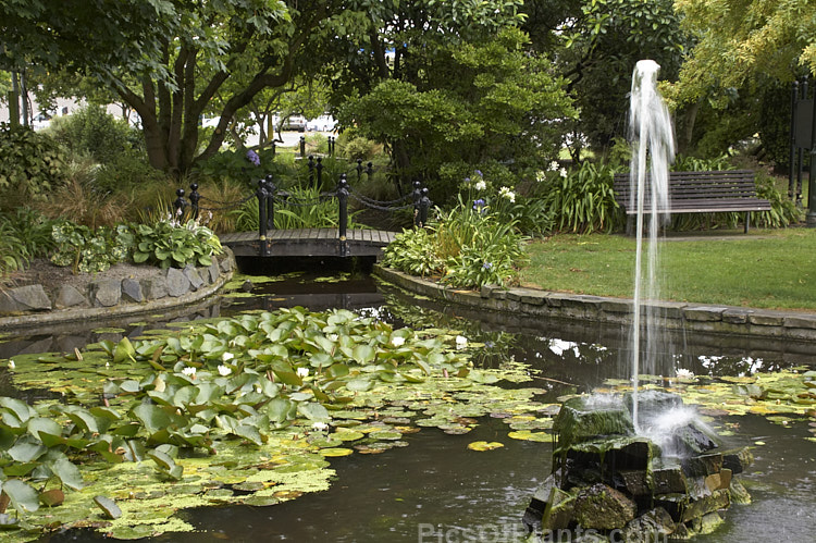
<svg viewBox="0 0 816 543"><path fill-rule="evenodd" d="M608 435L632 435L629 409L617 396L594 395L564 403L553 424L561 449Z"/></svg>

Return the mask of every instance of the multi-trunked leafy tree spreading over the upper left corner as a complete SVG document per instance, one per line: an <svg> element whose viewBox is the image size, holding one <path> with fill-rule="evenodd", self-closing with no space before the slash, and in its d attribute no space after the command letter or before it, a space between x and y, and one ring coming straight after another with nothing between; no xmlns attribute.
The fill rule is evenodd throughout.
<svg viewBox="0 0 816 543"><path fill-rule="evenodd" d="M3 0L0 67L95 77L141 118L150 163L182 175L220 149L256 95L289 82L296 55L339 3ZM199 118L226 88L219 125L200 146Z"/></svg>

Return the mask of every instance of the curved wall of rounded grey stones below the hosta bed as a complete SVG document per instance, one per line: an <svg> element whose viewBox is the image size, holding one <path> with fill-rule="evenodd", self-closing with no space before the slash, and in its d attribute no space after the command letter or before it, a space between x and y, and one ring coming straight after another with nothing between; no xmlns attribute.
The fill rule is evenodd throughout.
<svg viewBox="0 0 816 543"><path fill-rule="evenodd" d="M209 267L156 268L146 277L106 279L89 275L83 286L62 285L49 296L34 284L0 292L0 329L111 318L184 306L219 291L233 275L228 247Z"/></svg>

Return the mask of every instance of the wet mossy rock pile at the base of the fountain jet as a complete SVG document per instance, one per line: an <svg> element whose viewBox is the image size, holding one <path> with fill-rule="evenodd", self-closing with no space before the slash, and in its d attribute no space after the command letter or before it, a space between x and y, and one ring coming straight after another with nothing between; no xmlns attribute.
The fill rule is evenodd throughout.
<svg viewBox="0 0 816 543"><path fill-rule="evenodd" d="M752 462L747 448L720 449L675 394L643 392L633 404L605 395L561 406L553 472L523 517L540 541L684 540L750 502L733 477Z"/></svg>

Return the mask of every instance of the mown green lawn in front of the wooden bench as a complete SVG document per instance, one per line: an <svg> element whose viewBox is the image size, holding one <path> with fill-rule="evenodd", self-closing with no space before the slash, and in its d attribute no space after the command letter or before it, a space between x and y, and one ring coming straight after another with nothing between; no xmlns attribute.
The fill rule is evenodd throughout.
<svg viewBox="0 0 816 543"><path fill-rule="evenodd" d="M660 242L666 300L816 310L816 229L670 234ZM730 235L733 234L733 235ZM682 237L680 237L682 236ZM557 235L532 242L521 284L631 298L635 240Z"/></svg>

